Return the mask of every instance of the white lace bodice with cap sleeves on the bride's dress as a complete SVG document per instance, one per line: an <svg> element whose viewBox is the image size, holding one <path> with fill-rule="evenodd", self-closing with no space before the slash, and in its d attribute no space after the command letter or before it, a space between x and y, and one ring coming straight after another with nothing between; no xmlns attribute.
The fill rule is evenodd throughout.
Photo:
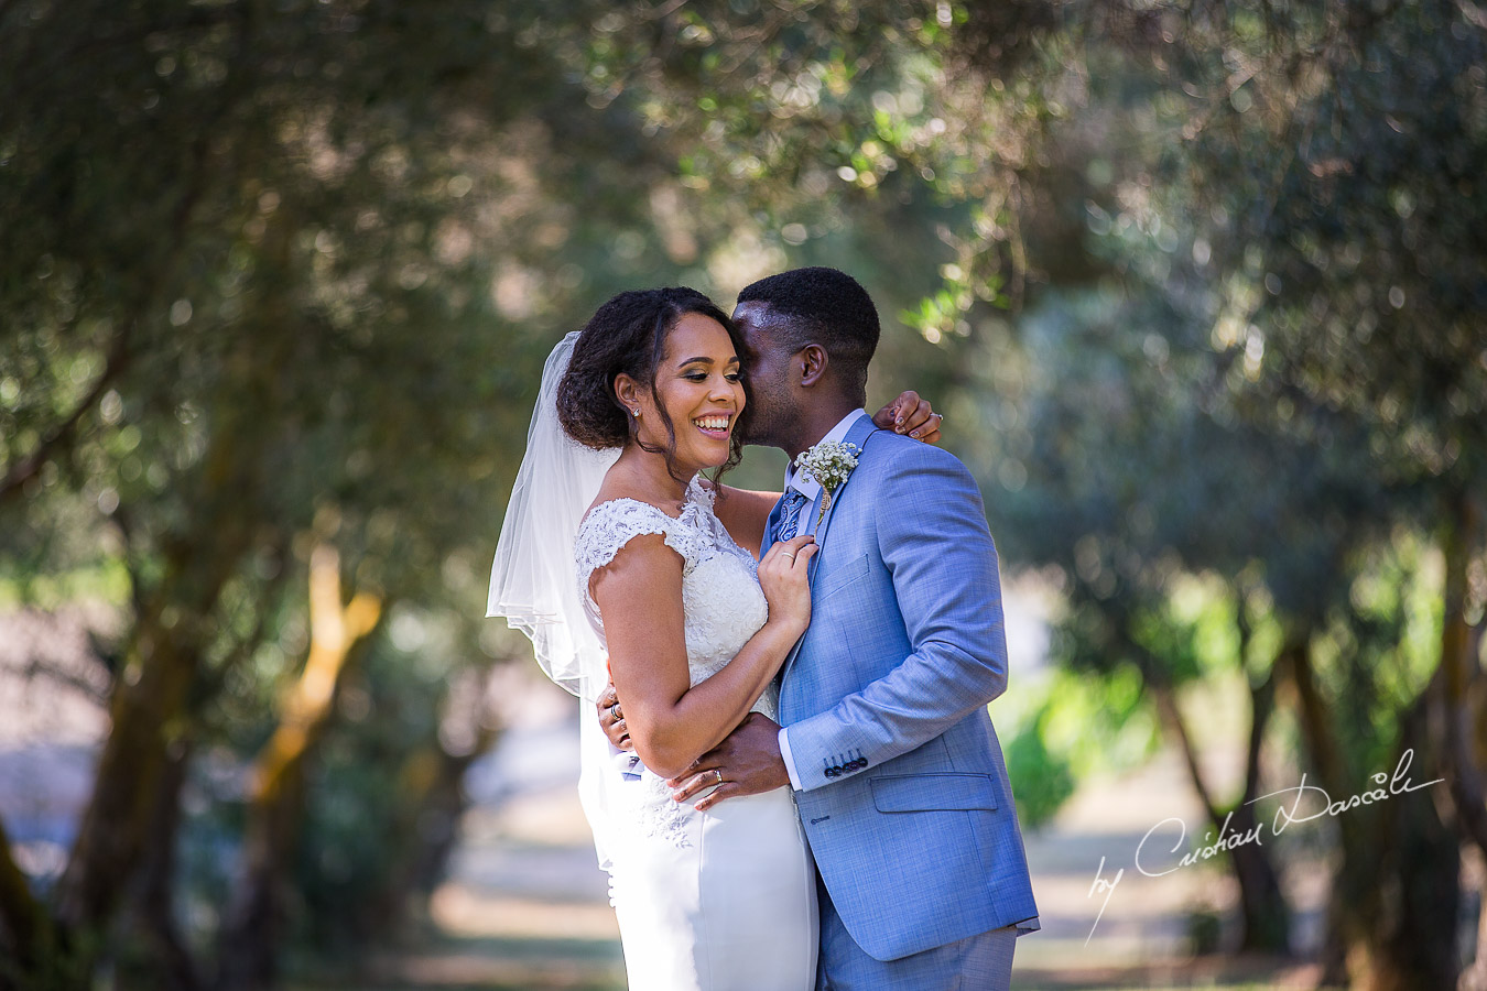
<svg viewBox="0 0 1487 991"><path fill-rule="evenodd" d="M614 560L622 547L642 533L663 535L666 547L681 556L687 670L693 685L727 667L769 618L769 603L758 585L758 565L718 522L712 498L714 493L693 478L680 517L666 516L636 499L601 502L578 524L574 542L578 596L601 643L605 643L604 621L589 594L593 571ZM779 721L779 691L775 685L764 689L752 710ZM639 776L639 792L635 795L639 825L653 835L686 845L686 808L671 799L665 782L638 762L626 764L622 773Z"/></svg>

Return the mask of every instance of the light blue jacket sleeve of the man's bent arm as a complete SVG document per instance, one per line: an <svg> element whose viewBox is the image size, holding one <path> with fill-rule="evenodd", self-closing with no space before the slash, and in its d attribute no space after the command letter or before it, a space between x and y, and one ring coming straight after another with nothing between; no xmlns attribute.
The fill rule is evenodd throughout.
<svg viewBox="0 0 1487 991"><path fill-rule="evenodd" d="M912 652L859 692L787 728L806 790L833 782L821 755L859 752L864 768L876 767L1007 689L996 547L975 481L934 447L892 453L874 517Z"/></svg>

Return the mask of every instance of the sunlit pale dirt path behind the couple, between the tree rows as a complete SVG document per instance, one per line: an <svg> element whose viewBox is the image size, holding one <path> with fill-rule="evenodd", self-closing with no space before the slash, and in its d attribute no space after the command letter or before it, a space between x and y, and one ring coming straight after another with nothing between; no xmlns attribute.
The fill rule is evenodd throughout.
<svg viewBox="0 0 1487 991"><path fill-rule="evenodd" d="M477 804L433 902L443 936L397 964L410 985L625 987L605 880L574 796L577 713L567 700L526 710L550 722L513 728L473 776ZM1233 893L1215 869L1160 878L1133 869L1142 838L1170 817L1190 829L1203 822L1181 764L1161 755L1135 774L1087 784L1051 826L1028 836L1042 932L1019 942L1014 987L1224 987L1274 969L1187 958L1190 909L1227 906ZM1149 851L1166 853L1161 836L1173 845L1175 825L1166 829L1148 841L1148 862ZM1096 871L1114 881L1121 869L1108 903L1105 893L1091 894Z"/></svg>

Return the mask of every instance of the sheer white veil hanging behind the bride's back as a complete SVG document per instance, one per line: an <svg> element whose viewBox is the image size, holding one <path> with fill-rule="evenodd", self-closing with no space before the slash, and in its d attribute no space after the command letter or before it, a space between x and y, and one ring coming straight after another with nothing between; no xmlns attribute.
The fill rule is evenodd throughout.
<svg viewBox="0 0 1487 991"><path fill-rule="evenodd" d="M620 449L584 447L558 422L558 383L577 340L578 331L564 337L543 367L526 455L495 547L485 615L506 617L513 630L529 636L547 678L589 703L578 706L578 798L593 829L599 866L608 869L608 787L620 750L605 738L593 706L610 675L604 646L578 600L572 544Z"/></svg>

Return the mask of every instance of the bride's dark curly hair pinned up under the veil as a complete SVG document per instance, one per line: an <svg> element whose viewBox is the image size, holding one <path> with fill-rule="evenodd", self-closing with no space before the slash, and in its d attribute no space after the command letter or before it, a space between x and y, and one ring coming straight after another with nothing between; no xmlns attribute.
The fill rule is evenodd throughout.
<svg viewBox="0 0 1487 991"><path fill-rule="evenodd" d="M677 471L677 426L666 416L656 389L656 368L666 354L671 330L687 313L700 313L718 321L733 342L735 352L744 358L746 351L738 327L697 290L668 287L620 293L584 324L568 360L568 370L558 383L558 420L564 432L595 450L623 447L633 437L644 450L665 455L671 475L686 481ZM630 412L614 392L614 379L622 373L636 382L650 383L651 398L666 428L666 447L653 447L635 435L636 425ZM744 455L742 417L749 409L746 376L744 382L745 406L733 426L729 459L718 467L714 480L738 465Z"/></svg>

